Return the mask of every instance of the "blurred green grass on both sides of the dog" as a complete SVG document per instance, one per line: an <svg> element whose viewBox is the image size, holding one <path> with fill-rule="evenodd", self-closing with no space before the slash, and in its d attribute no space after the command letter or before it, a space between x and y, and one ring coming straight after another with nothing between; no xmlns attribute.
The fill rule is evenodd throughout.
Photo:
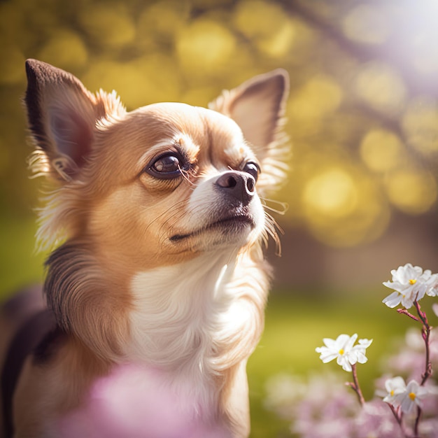
<svg viewBox="0 0 438 438"><path fill-rule="evenodd" d="M34 254L34 218L0 219L0 297L41 281L45 255ZM381 374L381 358L395 351L394 340L403 337L413 322L381 304L385 288L334 293L329 290L283 290L271 293L266 327L260 345L248 362L251 438L290 436L288 423L264 409L269 376L290 372L307 376L331 369L350 377L335 363L323 365L315 352L324 337L358 333L373 338L369 362L358 367L365 397L373 393L372 381Z"/></svg>

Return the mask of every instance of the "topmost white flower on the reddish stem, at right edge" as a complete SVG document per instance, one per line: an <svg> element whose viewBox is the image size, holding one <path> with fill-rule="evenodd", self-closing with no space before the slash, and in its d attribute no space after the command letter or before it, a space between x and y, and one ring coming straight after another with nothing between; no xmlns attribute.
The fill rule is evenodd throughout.
<svg viewBox="0 0 438 438"><path fill-rule="evenodd" d="M438 274L432 274L429 269L423 272L419 266L412 266L410 263L398 267L391 271L393 281L385 281L383 285L395 290L392 294L383 299L383 303L388 307L395 307L402 303L409 309L415 300L422 299L425 294L437 294Z"/></svg>

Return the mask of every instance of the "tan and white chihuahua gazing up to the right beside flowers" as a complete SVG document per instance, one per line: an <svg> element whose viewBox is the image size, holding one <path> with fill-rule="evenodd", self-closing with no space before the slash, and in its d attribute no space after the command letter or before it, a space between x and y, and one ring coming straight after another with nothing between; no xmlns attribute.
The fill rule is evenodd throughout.
<svg viewBox="0 0 438 438"><path fill-rule="evenodd" d="M31 169L54 184L37 237L52 252L45 303L3 309L6 437L248 437L288 74L209 109L128 112L66 71L26 69Z"/></svg>

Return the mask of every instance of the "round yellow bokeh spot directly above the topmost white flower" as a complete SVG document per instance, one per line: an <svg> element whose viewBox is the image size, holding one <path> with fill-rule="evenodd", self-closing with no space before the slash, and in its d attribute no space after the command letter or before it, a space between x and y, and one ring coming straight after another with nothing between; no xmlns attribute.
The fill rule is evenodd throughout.
<svg viewBox="0 0 438 438"><path fill-rule="evenodd" d="M437 201L437 182L428 171L404 169L386 181L390 202L404 213L425 213Z"/></svg>

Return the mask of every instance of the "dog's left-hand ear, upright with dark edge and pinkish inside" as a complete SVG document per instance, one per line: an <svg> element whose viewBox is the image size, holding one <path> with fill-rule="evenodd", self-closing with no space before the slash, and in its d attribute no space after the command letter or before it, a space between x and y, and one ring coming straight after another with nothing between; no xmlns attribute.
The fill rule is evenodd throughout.
<svg viewBox="0 0 438 438"><path fill-rule="evenodd" d="M24 102L38 150L33 170L74 180L92 150L99 121L123 113L115 93L89 92L75 76L45 62L26 62Z"/></svg>

